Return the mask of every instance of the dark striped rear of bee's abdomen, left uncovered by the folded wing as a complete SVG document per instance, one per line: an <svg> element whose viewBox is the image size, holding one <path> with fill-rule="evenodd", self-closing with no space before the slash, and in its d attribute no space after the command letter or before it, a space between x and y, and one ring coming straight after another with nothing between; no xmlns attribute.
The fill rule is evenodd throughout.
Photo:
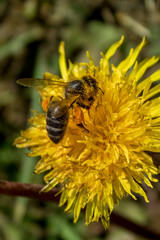
<svg viewBox="0 0 160 240"><path fill-rule="evenodd" d="M54 143L59 143L65 133L68 123L68 113L63 114L59 118L49 117L46 118L46 129L49 138Z"/></svg>

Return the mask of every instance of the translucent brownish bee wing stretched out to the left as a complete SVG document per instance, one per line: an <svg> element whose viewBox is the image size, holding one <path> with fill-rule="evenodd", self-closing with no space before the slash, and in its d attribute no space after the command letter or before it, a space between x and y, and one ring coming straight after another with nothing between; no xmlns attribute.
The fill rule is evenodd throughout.
<svg viewBox="0 0 160 240"><path fill-rule="evenodd" d="M21 78L17 83L25 87L33 87L36 89L49 86L65 87L66 82L63 80L41 79L41 78Z"/></svg>

